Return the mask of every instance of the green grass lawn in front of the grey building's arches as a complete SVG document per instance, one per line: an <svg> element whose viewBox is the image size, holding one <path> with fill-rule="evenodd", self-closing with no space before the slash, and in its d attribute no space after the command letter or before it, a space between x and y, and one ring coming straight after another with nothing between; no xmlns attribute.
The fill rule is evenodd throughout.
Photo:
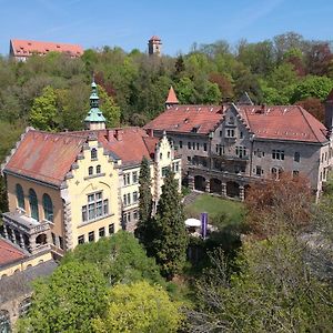
<svg viewBox="0 0 333 333"><path fill-rule="evenodd" d="M186 218L200 219L201 212L208 212L209 223L222 229L230 224L241 224L245 209L242 202L202 194L193 203L185 206L185 215Z"/></svg>

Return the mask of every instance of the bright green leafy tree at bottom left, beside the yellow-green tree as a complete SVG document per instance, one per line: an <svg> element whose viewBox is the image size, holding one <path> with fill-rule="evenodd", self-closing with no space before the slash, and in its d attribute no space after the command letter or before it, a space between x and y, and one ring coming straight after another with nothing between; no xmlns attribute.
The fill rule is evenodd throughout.
<svg viewBox="0 0 333 333"><path fill-rule="evenodd" d="M71 262L34 285L29 314L19 332L91 332L107 306L107 283L95 265Z"/></svg>

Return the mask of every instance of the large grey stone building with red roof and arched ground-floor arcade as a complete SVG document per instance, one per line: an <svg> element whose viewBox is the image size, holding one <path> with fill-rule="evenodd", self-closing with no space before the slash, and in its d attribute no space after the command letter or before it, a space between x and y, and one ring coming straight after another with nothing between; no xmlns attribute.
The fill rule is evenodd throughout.
<svg viewBox="0 0 333 333"><path fill-rule="evenodd" d="M252 182L303 174L319 195L332 165L333 93L325 125L299 105L182 105L173 89L165 111L144 128L164 131L182 155L192 189L244 199Z"/></svg>

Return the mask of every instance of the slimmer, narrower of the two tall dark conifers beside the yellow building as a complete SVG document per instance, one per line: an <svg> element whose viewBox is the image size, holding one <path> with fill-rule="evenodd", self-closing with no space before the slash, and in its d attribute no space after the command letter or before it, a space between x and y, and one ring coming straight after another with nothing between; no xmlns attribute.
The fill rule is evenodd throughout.
<svg viewBox="0 0 333 333"><path fill-rule="evenodd" d="M149 252L152 240L151 213L152 195L149 161L143 157L139 176L139 222L135 229L135 236Z"/></svg>

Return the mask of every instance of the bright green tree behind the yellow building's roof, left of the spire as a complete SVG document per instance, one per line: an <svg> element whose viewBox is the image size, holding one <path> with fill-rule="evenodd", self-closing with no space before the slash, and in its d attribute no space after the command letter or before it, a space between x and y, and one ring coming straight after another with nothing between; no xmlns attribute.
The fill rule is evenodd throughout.
<svg viewBox="0 0 333 333"><path fill-rule="evenodd" d="M57 93L52 87L46 87L42 94L33 100L29 121L39 130L59 129L60 114L57 107Z"/></svg>

